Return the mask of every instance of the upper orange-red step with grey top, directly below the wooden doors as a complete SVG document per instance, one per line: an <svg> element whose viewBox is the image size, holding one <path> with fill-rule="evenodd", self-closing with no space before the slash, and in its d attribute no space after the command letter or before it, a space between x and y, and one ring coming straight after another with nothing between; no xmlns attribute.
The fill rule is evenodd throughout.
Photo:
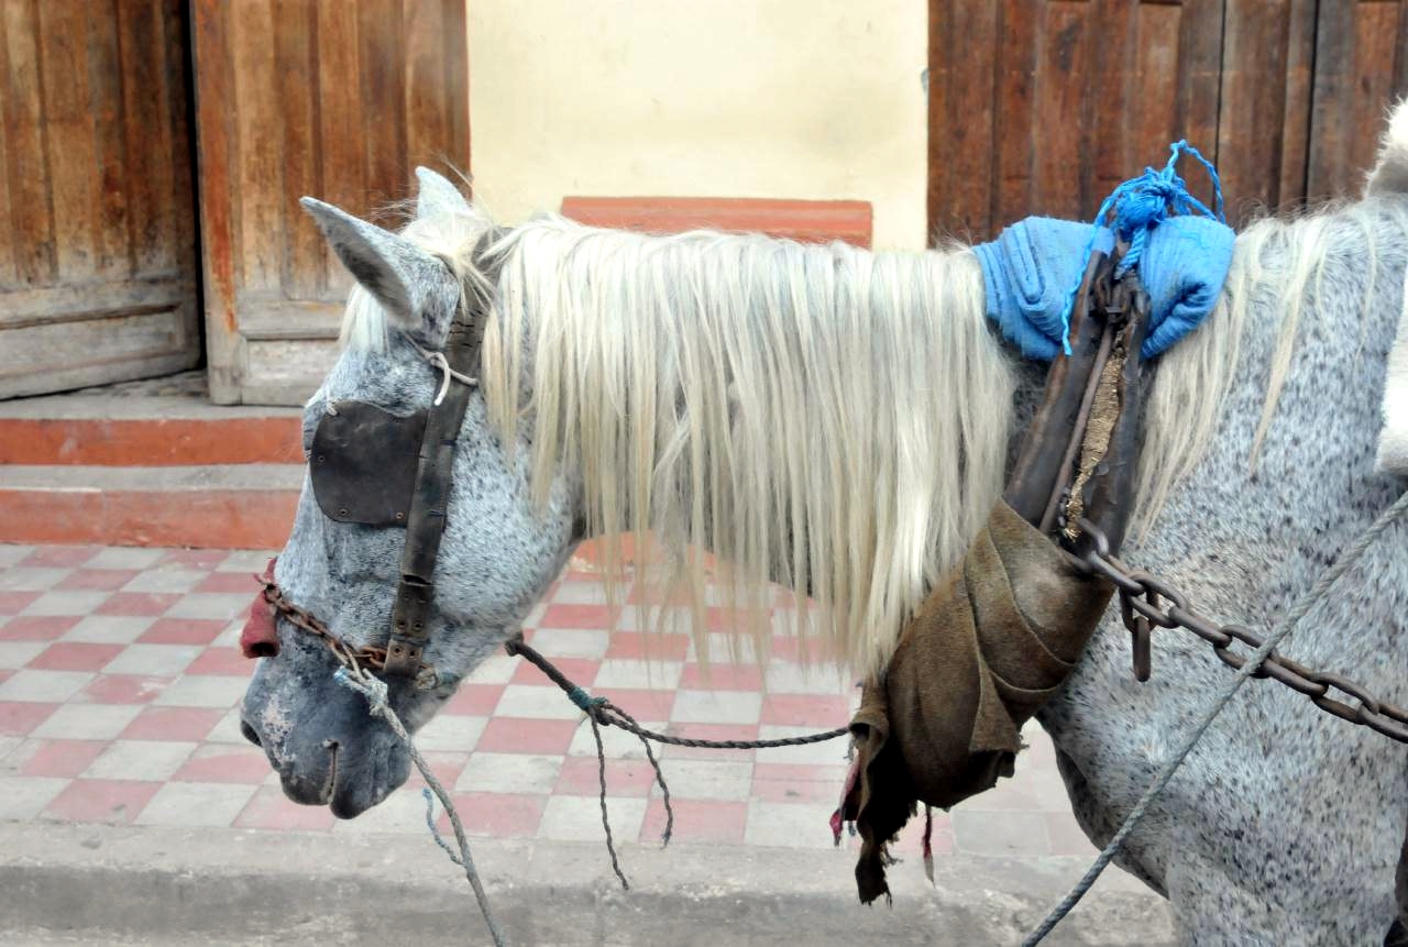
<svg viewBox="0 0 1408 947"><path fill-rule="evenodd" d="M0 402L0 464L298 464L297 408L204 398L58 395Z"/></svg>

